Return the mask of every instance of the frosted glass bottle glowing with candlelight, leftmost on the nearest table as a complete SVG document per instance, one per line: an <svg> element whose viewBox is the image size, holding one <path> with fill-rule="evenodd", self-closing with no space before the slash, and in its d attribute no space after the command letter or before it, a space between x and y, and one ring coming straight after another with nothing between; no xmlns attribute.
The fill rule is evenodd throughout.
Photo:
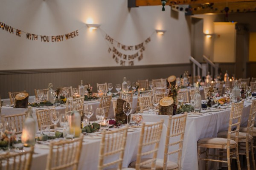
<svg viewBox="0 0 256 170"><path fill-rule="evenodd" d="M21 142L26 147L35 145L35 119L32 117L31 106L28 106L27 116L23 122Z"/></svg>

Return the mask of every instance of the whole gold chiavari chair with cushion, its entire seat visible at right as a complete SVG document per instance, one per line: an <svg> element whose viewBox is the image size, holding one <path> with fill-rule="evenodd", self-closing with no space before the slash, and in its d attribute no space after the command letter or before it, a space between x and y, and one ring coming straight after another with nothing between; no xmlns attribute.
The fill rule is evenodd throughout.
<svg viewBox="0 0 256 170"><path fill-rule="evenodd" d="M227 163L228 170L231 170L231 161L230 159L236 159L238 169L241 170L240 161L239 161L239 152L238 152L238 136L239 136L239 128L241 122L241 115L244 107L244 102L240 103L233 103L230 111L230 119L227 131L227 139L221 137L213 137L213 138L204 138L199 139L197 142L198 146L198 163L200 160L206 161L205 169L208 168L208 161L216 161L216 162L225 162ZM236 127L236 130L233 128ZM234 134L235 133L235 134ZM233 136L233 137L231 137ZM235 139L235 140L233 140ZM206 148L206 151L201 152L201 148ZM227 150L227 161L223 161L223 155L209 155L209 149L220 149L221 153L222 150ZM233 150L233 152L231 152ZM206 153L206 158L200 158L201 154ZM235 155L236 157L233 157ZM208 157L212 156L212 159ZM218 159L221 158L221 160ZM217 159L214 159L217 158ZM220 165L221 166L221 165Z"/></svg>

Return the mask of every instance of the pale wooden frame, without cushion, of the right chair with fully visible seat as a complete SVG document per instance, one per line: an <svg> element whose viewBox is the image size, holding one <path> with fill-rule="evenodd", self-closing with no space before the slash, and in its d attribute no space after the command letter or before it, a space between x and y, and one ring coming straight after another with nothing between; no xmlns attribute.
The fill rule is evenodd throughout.
<svg viewBox="0 0 256 170"><path fill-rule="evenodd" d="M227 131L227 145L225 144L207 144L207 143L200 143L200 140L197 142L197 147L198 147L198 164L200 160L206 161L205 164L205 169L207 170L208 168L208 161L216 161L216 162L225 162L227 163L227 168L228 170L231 170L231 163L230 159L236 159L238 169L241 170L240 167L240 161L239 161L239 152L238 152L238 136L239 136L239 129L240 129L240 122L241 122L241 116L242 116L242 111L244 107L244 102L240 103L233 103L230 111L230 119L229 119L229 125L228 125L228 131ZM237 120L236 123L233 123L234 120ZM233 128L236 127L235 130ZM236 139L234 140L236 144L230 144L231 139L231 134L235 133ZM214 139L214 138L206 138L208 139ZM216 138L218 139L218 138ZM221 139L221 138L219 138ZM232 140L233 141L233 140ZM201 147L207 148L206 151L201 152ZM214 156L214 157L220 157L223 158L222 155L209 155L209 149L214 148L214 149L225 149L227 150L227 161L223 160L218 160L218 159L208 159L208 156ZM234 149L234 152L230 152L231 149ZM206 153L206 158L200 158L201 154ZM233 155L236 155L236 157L231 157Z"/></svg>

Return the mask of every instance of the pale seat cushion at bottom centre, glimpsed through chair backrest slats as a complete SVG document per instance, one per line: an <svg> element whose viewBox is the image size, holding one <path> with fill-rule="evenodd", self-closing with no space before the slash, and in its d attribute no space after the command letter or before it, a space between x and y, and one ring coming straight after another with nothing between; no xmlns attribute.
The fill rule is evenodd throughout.
<svg viewBox="0 0 256 170"><path fill-rule="evenodd" d="M141 162L147 161L148 159L141 159ZM135 168L136 161L131 162L129 167L134 167ZM167 170L174 170L178 167L178 164L172 161L167 162ZM150 164L145 164L140 166L140 169L151 169L151 163ZM163 159L157 159L156 161L156 170L163 170Z"/></svg>

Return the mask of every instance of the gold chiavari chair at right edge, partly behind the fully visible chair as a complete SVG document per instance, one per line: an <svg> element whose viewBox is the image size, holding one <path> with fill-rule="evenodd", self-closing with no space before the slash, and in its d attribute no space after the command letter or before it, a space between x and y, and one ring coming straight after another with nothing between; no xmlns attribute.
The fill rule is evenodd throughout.
<svg viewBox="0 0 256 170"><path fill-rule="evenodd" d="M247 160L247 169L250 170L250 159L249 159L249 151L251 152L251 160L253 164L253 169L256 170L254 153L253 153L253 130L254 130L254 122L255 122L255 114L256 114L256 100L253 100L250 114L248 116L247 127L240 127L238 142L239 142L239 151L244 151L245 144L245 153L239 152L239 155L246 155ZM255 128L256 132L256 128ZM227 133L224 132L218 133L218 136L227 138ZM256 136L256 135L254 135ZM231 139L234 140L235 136L231 135Z"/></svg>

